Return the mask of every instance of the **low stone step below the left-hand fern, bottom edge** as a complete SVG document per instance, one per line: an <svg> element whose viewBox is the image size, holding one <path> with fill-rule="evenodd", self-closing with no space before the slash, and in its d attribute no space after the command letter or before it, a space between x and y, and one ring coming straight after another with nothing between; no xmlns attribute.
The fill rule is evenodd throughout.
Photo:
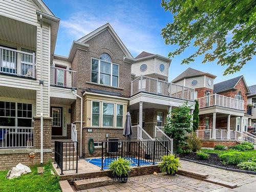
<svg viewBox="0 0 256 192"><path fill-rule="evenodd" d="M74 187L76 190L101 187L106 185L112 185L114 181L110 177L97 177L90 179L80 179L74 181Z"/></svg>

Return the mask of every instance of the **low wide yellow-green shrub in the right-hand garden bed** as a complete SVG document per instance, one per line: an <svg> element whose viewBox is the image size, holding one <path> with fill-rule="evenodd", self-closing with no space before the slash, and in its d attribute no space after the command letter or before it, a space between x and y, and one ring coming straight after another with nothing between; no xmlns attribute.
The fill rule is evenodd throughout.
<svg viewBox="0 0 256 192"><path fill-rule="evenodd" d="M219 157L222 162L225 162L230 165L237 165L241 162L252 160L253 153L232 151L232 152L219 154Z"/></svg>

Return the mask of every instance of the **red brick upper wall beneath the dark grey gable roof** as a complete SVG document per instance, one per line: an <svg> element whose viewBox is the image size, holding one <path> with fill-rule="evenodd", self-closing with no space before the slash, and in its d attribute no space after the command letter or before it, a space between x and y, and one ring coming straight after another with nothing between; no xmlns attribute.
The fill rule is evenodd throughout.
<svg viewBox="0 0 256 192"><path fill-rule="evenodd" d="M241 92L244 98L244 111L246 111L247 110L247 89L245 87L245 83L243 79L240 79L240 81L237 83L236 87L234 88L236 88L237 90L229 90L229 91L218 93L218 94L224 95L226 97L234 98L235 95L238 94L238 92Z"/></svg>

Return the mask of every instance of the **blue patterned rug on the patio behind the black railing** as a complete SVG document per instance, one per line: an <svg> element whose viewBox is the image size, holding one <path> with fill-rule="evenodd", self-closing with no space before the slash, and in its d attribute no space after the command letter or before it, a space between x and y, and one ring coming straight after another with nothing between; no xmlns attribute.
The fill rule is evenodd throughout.
<svg viewBox="0 0 256 192"><path fill-rule="evenodd" d="M139 160L135 157L124 157L131 161L131 166L138 166ZM104 158L103 159L103 169L109 169L109 164L115 160L116 158ZM93 159L86 159L89 163L92 163L96 166L101 167L101 158L93 158ZM140 165L153 165L153 162L147 162L145 160L140 159Z"/></svg>

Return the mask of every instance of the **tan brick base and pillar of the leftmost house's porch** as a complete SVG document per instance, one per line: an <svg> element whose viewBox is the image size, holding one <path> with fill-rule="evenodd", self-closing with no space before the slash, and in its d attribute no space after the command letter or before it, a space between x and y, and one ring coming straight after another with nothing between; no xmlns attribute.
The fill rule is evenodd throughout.
<svg viewBox="0 0 256 192"><path fill-rule="evenodd" d="M0 170L9 169L18 163L35 165L40 163L40 117L34 118L34 146L32 148L15 148L0 150ZM44 118L44 163L51 160L52 118ZM2 153L3 152L3 153ZM30 158L29 153L34 152L35 157Z"/></svg>

